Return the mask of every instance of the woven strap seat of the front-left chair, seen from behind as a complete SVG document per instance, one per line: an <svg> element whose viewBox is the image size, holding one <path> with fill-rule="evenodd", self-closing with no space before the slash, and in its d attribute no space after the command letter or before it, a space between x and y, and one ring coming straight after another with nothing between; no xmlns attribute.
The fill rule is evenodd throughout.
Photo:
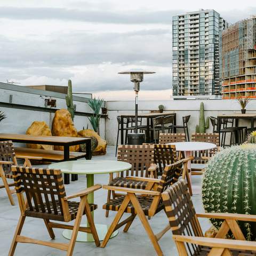
<svg viewBox="0 0 256 256"><path fill-rule="evenodd" d="M57 206L58 214L54 214L53 203L49 202L50 209L51 209L52 213L49 213L49 211L47 211L47 205L46 205L46 203L44 203L43 205L44 205L44 208L46 209L46 212L43 212L42 211L42 207L40 207L40 205L38 205L39 211L36 211L35 206L33 206L34 210L31 211L30 209L27 209L25 211L25 216L27 216L27 217L34 217L34 218L40 218L40 219L65 221L63 214L61 214L61 209L60 209L59 201L57 200L54 203ZM96 210L97 207L98 207L97 204L89 204L89 206L90 206L91 212ZM79 207L79 202L68 201L68 208L69 208L69 212L70 212L70 215L71 215L71 220L74 220L76 218L78 207ZM83 215L84 214L85 214L85 212L83 212Z"/></svg>

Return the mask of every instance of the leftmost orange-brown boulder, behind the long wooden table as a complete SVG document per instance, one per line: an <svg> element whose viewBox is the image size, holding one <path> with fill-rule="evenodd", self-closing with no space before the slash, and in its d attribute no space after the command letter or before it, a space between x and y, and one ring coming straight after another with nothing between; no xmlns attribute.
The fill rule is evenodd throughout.
<svg viewBox="0 0 256 256"><path fill-rule="evenodd" d="M45 122L34 121L26 132L28 135L34 136L51 136L51 130L49 126ZM53 146L51 145L41 145L41 144L27 144L28 148L36 148L36 149L47 149L53 150Z"/></svg>

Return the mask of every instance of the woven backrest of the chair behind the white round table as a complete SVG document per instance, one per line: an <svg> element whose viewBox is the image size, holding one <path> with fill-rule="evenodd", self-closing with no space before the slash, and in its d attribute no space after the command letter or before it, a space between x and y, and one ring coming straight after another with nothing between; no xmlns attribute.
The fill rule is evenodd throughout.
<svg viewBox="0 0 256 256"><path fill-rule="evenodd" d="M200 142L209 142L215 144L217 147L220 143L219 133L193 133L191 137L191 141L200 141ZM194 151L194 157L202 157L202 156L211 156L210 152L217 151L218 148L213 148L210 150L203 151Z"/></svg>

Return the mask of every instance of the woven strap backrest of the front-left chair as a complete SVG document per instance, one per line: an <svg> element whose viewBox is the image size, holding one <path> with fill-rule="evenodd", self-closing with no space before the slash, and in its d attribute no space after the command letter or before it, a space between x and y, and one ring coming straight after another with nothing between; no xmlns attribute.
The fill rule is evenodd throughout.
<svg viewBox="0 0 256 256"><path fill-rule="evenodd" d="M17 195L26 195L27 210L34 212L34 217L52 219L51 215L65 216L62 203L66 192L60 170L12 166L12 173Z"/></svg>

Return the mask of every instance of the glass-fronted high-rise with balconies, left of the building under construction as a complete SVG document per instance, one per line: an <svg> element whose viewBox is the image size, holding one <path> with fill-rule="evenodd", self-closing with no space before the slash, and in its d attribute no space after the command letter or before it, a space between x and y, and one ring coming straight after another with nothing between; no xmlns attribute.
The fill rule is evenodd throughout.
<svg viewBox="0 0 256 256"><path fill-rule="evenodd" d="M173 17L173 96L220 95L220 50L227 23L214 10ZM175 97L176 96L176 97Z"/></svg>

